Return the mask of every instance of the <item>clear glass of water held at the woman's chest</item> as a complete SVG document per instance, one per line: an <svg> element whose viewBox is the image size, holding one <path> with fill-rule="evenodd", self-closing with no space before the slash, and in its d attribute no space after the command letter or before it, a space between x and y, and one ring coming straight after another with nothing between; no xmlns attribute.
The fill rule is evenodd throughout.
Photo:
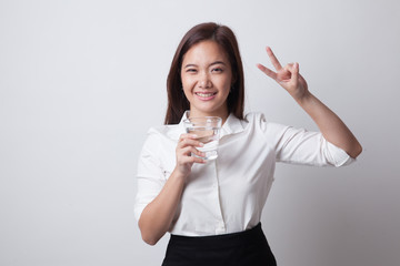
<svg viewBox="0 0 400 266"><path fill-rule="evenodd" d="M196 134L197 140L204 144L202 147L197 147L197 150L206 154L202 158L217 158L222 119L218 116L191 117L183 120L183 124L187 133ZM192 154L192 156L197 155Z"/></svg>

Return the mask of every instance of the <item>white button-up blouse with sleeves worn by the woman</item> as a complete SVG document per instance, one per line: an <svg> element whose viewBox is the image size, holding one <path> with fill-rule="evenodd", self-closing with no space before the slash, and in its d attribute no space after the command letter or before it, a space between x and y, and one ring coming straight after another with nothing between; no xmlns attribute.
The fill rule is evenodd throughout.
<svg viewBox="0 0 400 266"><path fill-rule="evenodd" d="M184 132L182 121L149 130L138 164L138 221L173 171ZM276 162L342 166L352 161L319 132L269 123L260 113L244 120L230 114L221 129L218 158L193 164L169 232L207 236L250 229L261 219Z"/></svg>

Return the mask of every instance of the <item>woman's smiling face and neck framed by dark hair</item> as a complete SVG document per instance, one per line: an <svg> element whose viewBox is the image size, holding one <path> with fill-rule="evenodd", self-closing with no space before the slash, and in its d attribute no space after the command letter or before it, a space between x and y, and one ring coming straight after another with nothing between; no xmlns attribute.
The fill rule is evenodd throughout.
<svg viewBox="0 0 400 266"><path fill-rule="evenodd" d="M228 55L217 42L207 40L189 49L183 55L181 80L190 102L190 116L228 117L232 70Z"/></svg>

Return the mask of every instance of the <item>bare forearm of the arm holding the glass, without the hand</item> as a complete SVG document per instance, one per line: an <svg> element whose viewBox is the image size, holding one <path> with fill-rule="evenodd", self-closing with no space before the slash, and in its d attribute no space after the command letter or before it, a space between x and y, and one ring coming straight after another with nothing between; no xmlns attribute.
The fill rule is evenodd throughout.
<svg viewBox="0 0 400 266"><path fill-rule="evenodd" d="M168 178L160 194L144 208L139 219L142 238L154 245L169 229L184 186L184 177L176 172Z"/></svg>

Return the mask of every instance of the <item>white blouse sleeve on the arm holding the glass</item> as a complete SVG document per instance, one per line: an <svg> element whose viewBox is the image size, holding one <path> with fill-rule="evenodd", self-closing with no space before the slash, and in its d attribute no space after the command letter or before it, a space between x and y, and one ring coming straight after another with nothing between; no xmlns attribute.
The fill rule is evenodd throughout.
<svg viewBox="0 0 400 266"><path fill-rule="evenodd" d="M157 156L158 143L157 135L150 130L138 162L138 192L134 202L134 217L137 221L139 221L146 206L157 197L166 183L161 163Z"/></svg>

